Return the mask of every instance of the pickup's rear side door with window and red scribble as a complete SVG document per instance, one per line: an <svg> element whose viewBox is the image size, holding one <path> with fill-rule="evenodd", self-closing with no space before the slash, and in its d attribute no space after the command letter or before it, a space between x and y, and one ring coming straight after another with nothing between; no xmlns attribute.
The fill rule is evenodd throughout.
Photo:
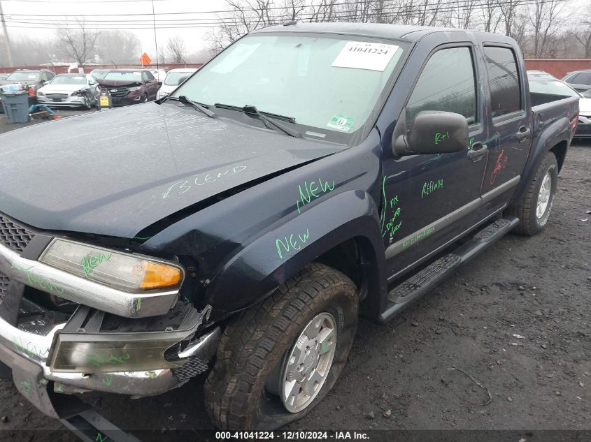
<svg viewBox="0 0 591 442"><path fill-rule="evenodd" d="M490 133L485 138L488 158L482 194L490 205L499 206L506 199L499 197L518 184L525 166L532 141L531 112L526 108L522 87L525 72L520 71L513 47L485 45L483 51L490 94Z"/></svg>

